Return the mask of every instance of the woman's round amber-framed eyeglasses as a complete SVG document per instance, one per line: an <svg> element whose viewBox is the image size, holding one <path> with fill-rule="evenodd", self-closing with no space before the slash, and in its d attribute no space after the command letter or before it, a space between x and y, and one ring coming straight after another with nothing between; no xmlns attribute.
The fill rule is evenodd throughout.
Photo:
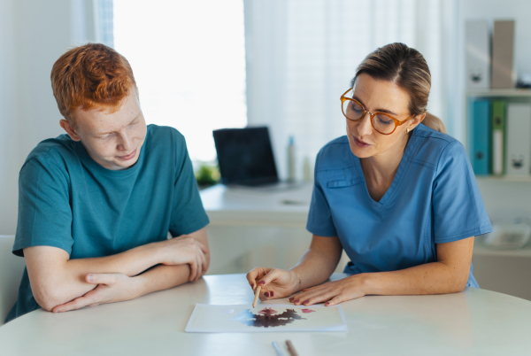
<svg viewBox="0 0 531 356"><path fill-rule="evenodd" d="M381 133L381 135L391 135L393 132L395 132L397 126L404 124L407 122L407 120L410 120L413 116L415 116L412 115L403 121L399 121L385 112L367 112L365 107L363 107L358 100L345 97L350 90L352 90L352 88L345 91L341 96L341 108L345 118L351 121L358 121L364 118L368 113L370 115L373 128Z"/></svg>

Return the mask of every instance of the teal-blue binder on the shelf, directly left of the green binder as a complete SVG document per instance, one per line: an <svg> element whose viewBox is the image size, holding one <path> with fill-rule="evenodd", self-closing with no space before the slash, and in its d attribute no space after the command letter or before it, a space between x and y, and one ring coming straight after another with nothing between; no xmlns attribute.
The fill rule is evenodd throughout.
<svg viewBox="0 0 531 356"><path fill-rule="evenodd" d="M471 98L468 103L468 154L476 175L490 174L490 102Z"/></svg>

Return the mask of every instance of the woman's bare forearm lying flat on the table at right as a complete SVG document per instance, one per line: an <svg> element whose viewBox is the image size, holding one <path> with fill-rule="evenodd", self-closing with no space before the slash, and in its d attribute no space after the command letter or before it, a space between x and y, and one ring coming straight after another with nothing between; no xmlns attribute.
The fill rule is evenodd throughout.
<svg viewBox="0 0 531 356"><path fill-rule="evenodd" d="M468 280L468 274L458 274L442 262L359 277L365 279L365 293L377 295L454 293L464 290Z"/></svg>

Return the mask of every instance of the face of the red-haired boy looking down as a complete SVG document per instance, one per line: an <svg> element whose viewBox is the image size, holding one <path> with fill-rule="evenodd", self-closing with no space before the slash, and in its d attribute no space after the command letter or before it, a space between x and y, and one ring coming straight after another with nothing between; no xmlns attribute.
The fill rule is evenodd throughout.
<svg viewBox="0 0 531 356"><path fill-rule="evenodd" d="M100 166L121 170L135 165L146 137L136 89L123 99L117 112L78 107L72 116L75 128L66 120L61 120L61 127L74 141L81 141Z"/></svg>

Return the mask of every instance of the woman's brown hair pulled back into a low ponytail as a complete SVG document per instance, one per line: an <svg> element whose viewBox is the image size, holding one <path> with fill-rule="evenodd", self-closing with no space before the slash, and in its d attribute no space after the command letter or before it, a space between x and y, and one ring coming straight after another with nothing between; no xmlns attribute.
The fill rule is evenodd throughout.
<svg viewBox="0 0 531 356"><path fill-rule="evenodd" d="M426 59L418 50L409 48L404 43L389 43L374 50L358 66L356 76L350 81L352 88L358 75L363 73L376 80L392 81L407 91L410 96L410 113L418 115L426 112L422 123L446 134L443 121L426 111L431 74Z"/></svg>

